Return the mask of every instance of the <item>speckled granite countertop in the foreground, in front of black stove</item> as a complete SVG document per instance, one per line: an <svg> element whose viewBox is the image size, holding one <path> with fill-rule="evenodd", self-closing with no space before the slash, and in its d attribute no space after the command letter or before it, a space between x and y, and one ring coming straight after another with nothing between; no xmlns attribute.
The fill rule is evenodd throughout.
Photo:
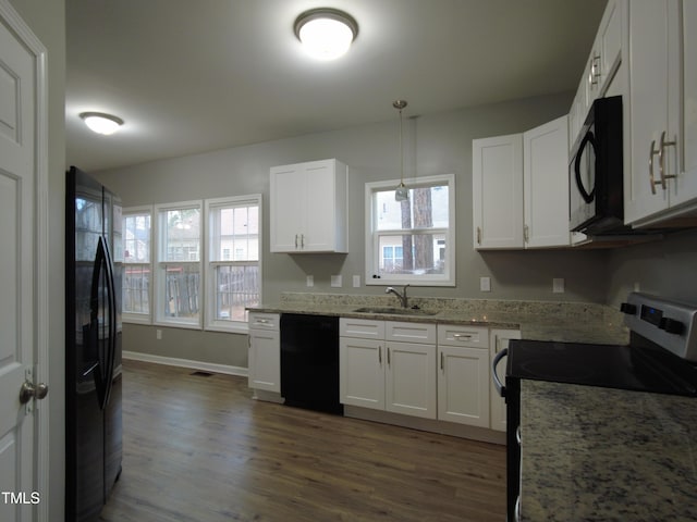
<svg viewBox="0 0 697 522"><path fill-rule="evenodd" d="M523 381L522 521L697 520L697 399Z"/></svg>

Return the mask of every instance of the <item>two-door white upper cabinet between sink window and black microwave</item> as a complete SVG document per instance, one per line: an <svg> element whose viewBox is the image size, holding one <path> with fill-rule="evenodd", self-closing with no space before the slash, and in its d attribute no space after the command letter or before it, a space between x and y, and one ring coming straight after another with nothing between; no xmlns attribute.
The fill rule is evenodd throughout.
<svg viewBox="0 0 697 522"><path fill-rule="evenodd" d="M473 140L475 249L568 246L568 119Z"/></svg>

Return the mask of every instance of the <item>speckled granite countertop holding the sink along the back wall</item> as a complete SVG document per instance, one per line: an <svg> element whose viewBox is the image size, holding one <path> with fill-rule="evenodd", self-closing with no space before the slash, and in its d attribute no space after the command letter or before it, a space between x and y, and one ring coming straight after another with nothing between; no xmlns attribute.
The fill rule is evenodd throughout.
<svg viewBox="0 0 697 522"><path fill-rule="evenodd" d="M362 307L398 308L394 296L288 293L278 303L249 308L267 313L306 313L390 321L519 328L523 338L571 343L626 344L622 314L602 304L496 299L409 298L431 314L362 313Z"/></svg>

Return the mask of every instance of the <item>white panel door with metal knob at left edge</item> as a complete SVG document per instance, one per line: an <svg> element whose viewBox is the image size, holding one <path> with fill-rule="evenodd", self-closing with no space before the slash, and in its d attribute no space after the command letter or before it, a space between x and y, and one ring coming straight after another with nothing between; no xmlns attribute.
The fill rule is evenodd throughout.
<svg viewBox="0 0 697 522"><path fill-rule="evenodd" d="M33 520L34 400L20 388L34 368L34 54L0 3L0 520ZM38 492L40 494L40 492Z"/></svg>

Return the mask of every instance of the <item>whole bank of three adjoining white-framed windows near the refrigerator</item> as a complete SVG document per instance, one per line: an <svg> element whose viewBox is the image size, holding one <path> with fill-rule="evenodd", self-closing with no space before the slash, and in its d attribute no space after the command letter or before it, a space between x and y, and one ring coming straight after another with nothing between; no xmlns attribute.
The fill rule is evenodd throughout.
<svg viewBox="0 0 697 522"><path fill-rule="evenodd" d="M260 214L261 195L124 209L124 321L246 331L245 307L260 301Z"/></svg>

